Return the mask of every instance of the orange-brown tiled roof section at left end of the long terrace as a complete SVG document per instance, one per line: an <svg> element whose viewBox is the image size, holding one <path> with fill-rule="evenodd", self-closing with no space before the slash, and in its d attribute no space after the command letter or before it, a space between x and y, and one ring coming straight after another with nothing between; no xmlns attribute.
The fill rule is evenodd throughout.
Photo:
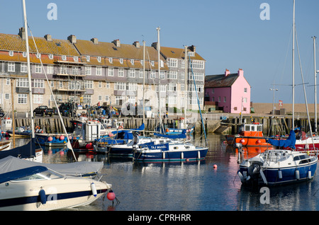
<svg viewBox="0 0 319 225"><path fill-rule="evenodd" d="M79 56L79 52L69 40L52 39L52 41L47 41L45 37L34 37L34 40L41 54ZM28 42L30 53L36 53L33 38L28 37ZM26 52L26 40L22 40L20 35L0 33L0 50Z"/></svg>

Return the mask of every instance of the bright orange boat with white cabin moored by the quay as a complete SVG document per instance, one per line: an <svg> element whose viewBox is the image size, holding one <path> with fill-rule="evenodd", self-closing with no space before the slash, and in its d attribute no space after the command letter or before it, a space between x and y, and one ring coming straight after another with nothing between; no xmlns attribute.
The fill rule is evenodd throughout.
<svg viewBox="0 0 319 225"><path fill-rule="evenodd" d="M258 122L252 124L242 124L239 127L238 134L225 135L228 145L241 143L243 146L272 146L266 142L266 138L262 134L262 125Z"/></svg>

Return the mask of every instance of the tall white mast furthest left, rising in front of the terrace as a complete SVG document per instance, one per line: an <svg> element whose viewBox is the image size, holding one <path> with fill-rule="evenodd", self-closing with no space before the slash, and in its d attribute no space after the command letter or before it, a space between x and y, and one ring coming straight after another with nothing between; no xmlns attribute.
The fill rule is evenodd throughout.
<svg viewBox="0 0 319 225"><path fill-rule="evenodd" d="M28 65L29 100L30 100L30 116L31 116L31 138L35 138L34 120L33 120L33 98L32 98L32 86L31 86L30 53L29 53L29 41L28 41L28 22L26 18L26 1L23 0L22 3L23 3L24 32L26 34L26 54L27 54L27 65Z"/></svg>

